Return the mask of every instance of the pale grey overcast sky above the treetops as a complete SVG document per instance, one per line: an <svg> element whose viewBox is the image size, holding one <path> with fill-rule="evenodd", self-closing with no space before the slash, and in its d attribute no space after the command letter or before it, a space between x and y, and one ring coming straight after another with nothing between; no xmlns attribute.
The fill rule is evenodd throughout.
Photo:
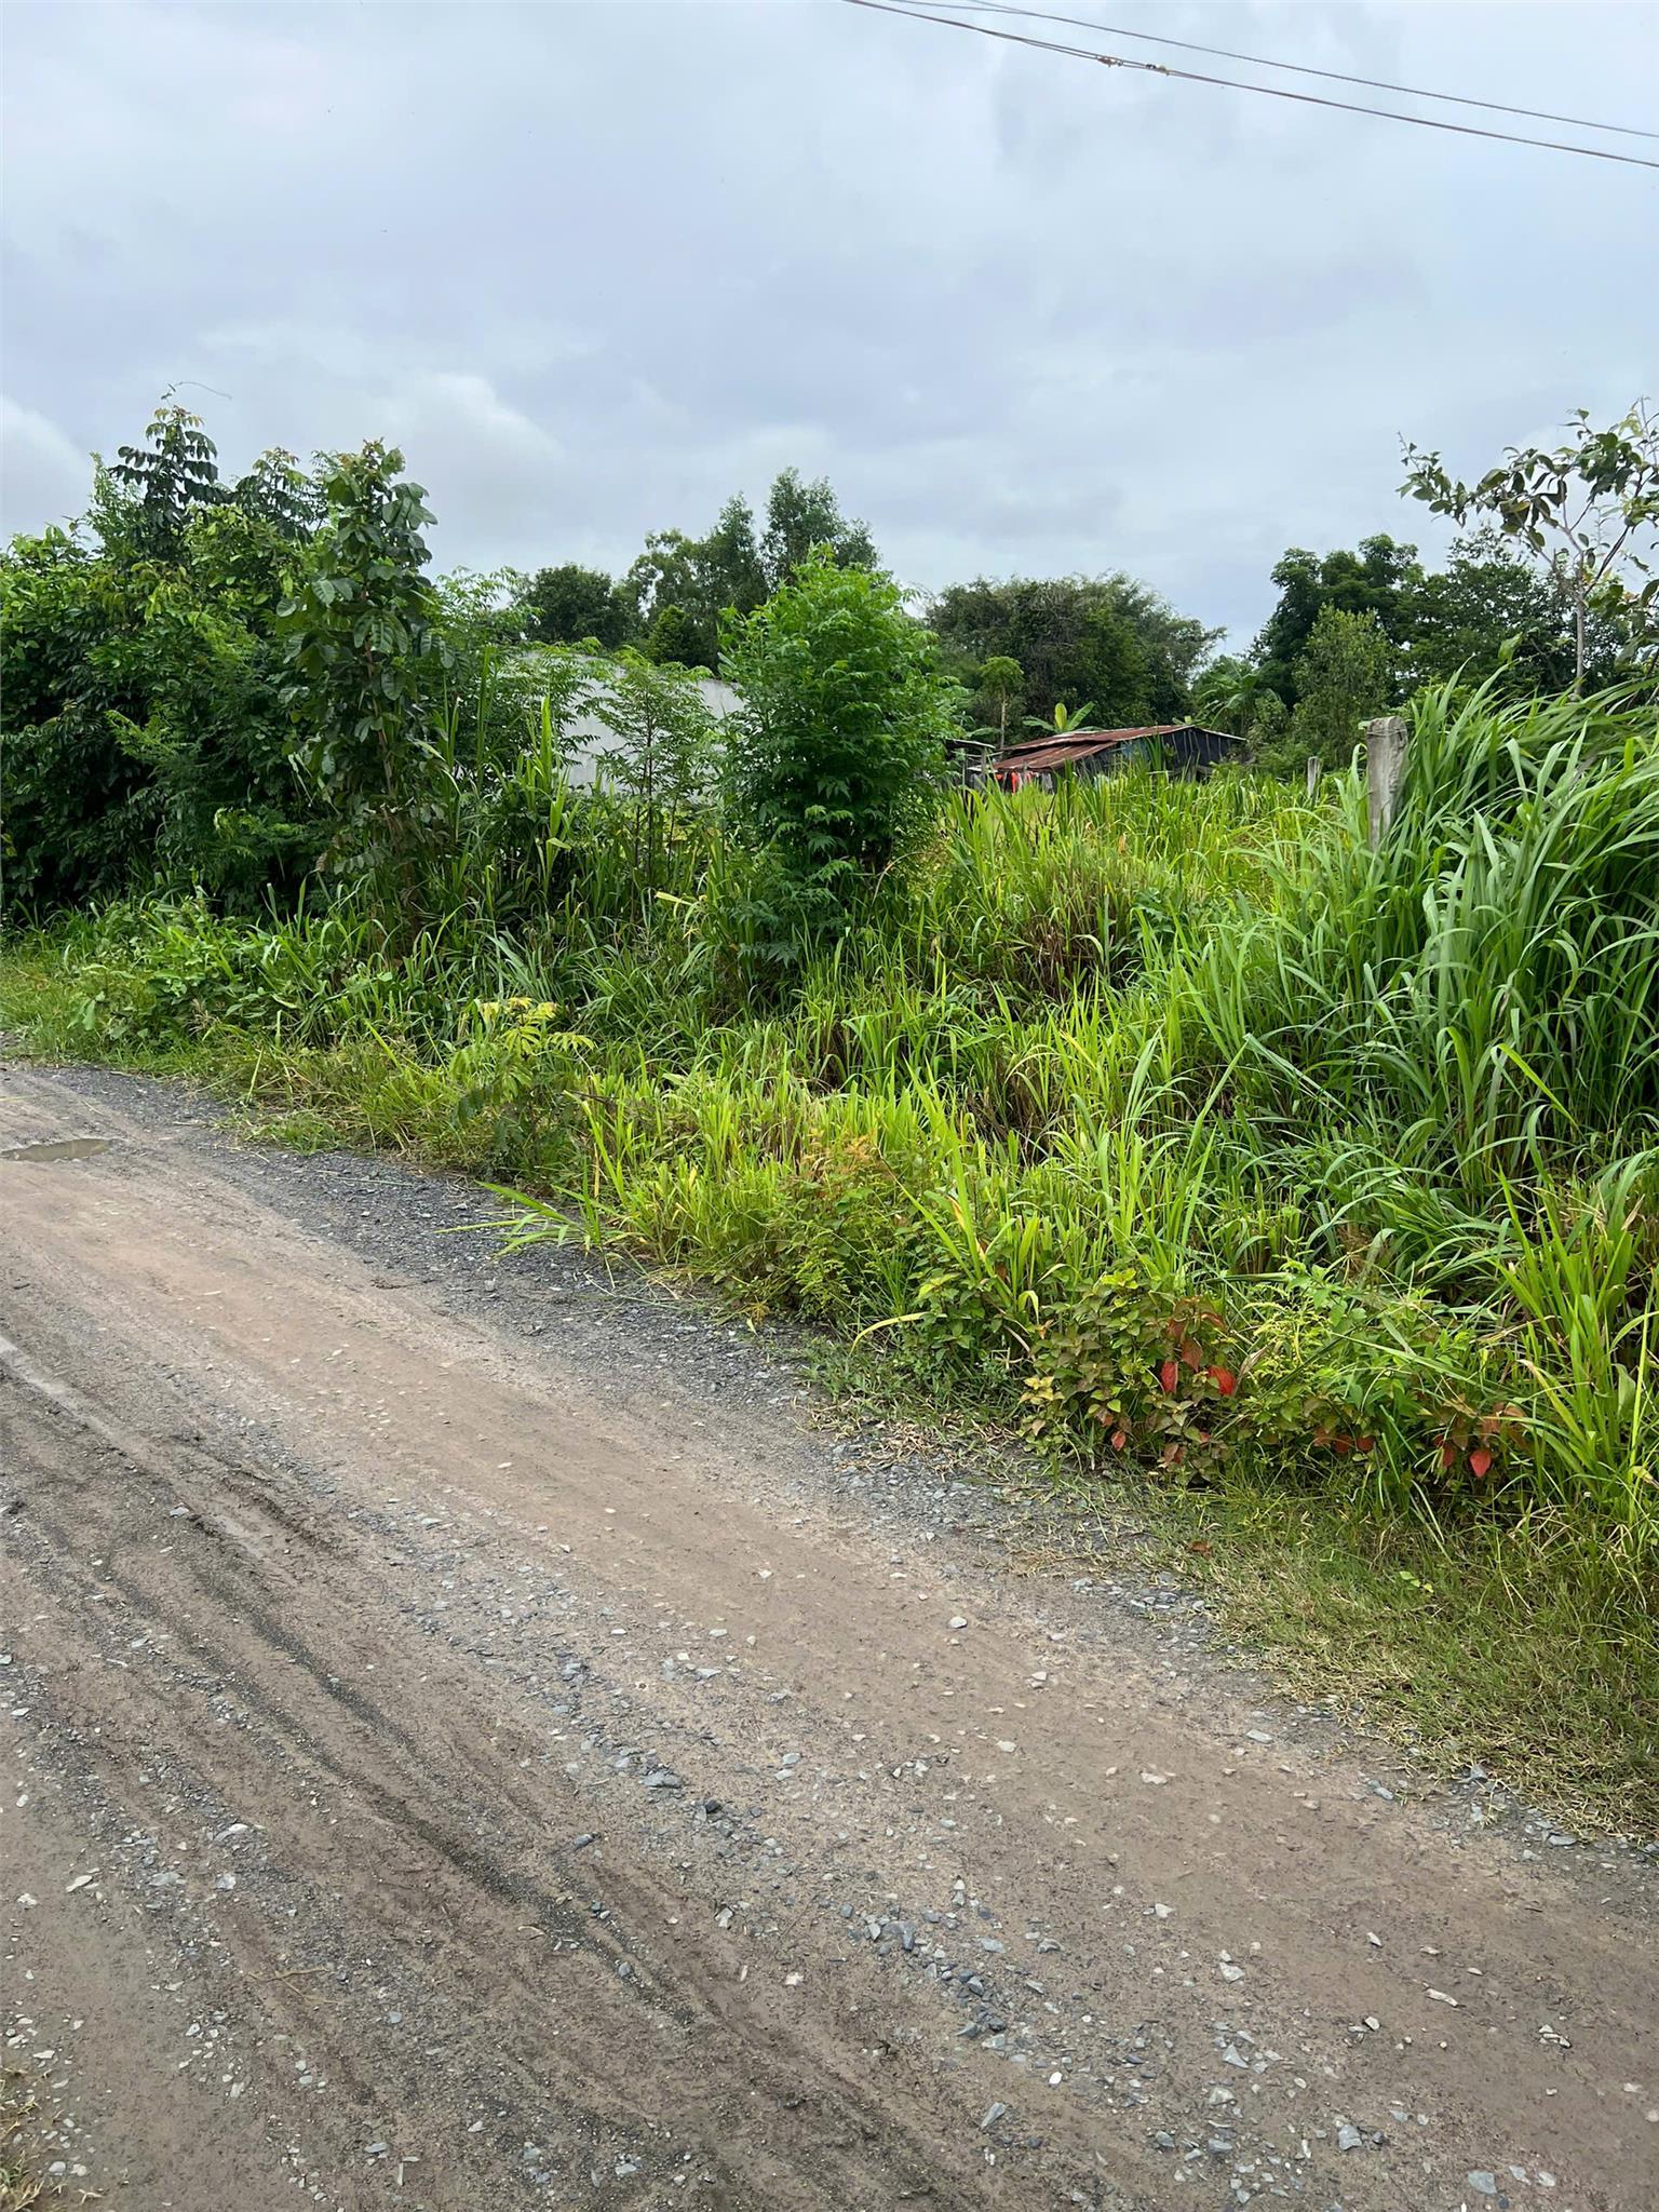
<svg viewBox="0 0 1659 2212"><path fill-rule="evenodd" d="M1659 128L1646 0L1053 4ZM1436 542L1400 434L1475 469L1659 387L1655 170L836 0L2 20L7 531L181 383L232 467L396 440L445 566L622 568L794 462L907 584L1128 568L1250 633L1287 544Z"/></svg>

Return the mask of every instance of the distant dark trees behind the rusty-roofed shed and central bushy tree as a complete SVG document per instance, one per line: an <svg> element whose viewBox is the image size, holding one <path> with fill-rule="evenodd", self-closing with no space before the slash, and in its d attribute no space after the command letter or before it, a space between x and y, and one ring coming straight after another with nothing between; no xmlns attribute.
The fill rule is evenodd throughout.
<svg viewBox="0 0 1659 2212"><path fill-rule="evenodd" d="M975 577L916 606L964 699L967 723L1006 743L1029 726L1128 728L1186 714L1245 737L1263 765L1349 759L1367 714L1422 684L1495 681L1511 695L1599 688L1655 668L1659 438L1650 409L1566 445L1511 449L1475 484L1407 447L1400 487L1462 535L1444 566L1385 533L1272 568L1279 599L1243 653L1130 575ZM549 644L637 646L719 664L723 608L785 584L816 544L878 566L863 522L823 478L785 469L757 522L734 495L706 538L655 531L622 577L566 562L520 584L526 633Z"/></svg>

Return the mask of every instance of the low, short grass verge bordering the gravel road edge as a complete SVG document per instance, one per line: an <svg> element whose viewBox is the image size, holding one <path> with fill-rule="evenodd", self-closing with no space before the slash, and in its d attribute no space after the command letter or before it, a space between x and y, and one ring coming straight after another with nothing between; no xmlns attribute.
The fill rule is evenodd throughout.
<svg viewBox="0 0 1659 2212"><path fill-rule="evenodd" d="M378 1040L272 1046L232 1029L195 1040L80 1035L75 971L42 942L0 951L0 1022L24 1048L199 1084L246 1135L394 1152L489 1177L491 1126L456 1124L407 1055ZM420 1110L420 1099L427 1099ZM522 1170L522 1155L513 1161ZM531 1177L533 1181L533 1177ZM564 1214L571 1234L584 1228ZM677 1270L686 1274L686 1270ZM708 1290L708 1276L692 1270ZM768 1303L717 1292L754 1318ZM1374 1730L1427 1774L1484 1767L1577 1834L1659 1836L1659 1637L1641 1588L1562 1515L1520 1522L1378 1517L1349 1489L1212 1471L1199 1484L1110 1475L1033 1449L995 1385L896 1358L887 1334L807 1332L832 1418L880 1418L989 1467L1015 1513L1015 1555L1091 1573L1175 1575L1221 1637L1287 1694ZM1000 1400L1000 1402L993 1402ZM24 2199L27 2201L27 2199ZM0 2199L4 2205L4 2199Z"/></svg>

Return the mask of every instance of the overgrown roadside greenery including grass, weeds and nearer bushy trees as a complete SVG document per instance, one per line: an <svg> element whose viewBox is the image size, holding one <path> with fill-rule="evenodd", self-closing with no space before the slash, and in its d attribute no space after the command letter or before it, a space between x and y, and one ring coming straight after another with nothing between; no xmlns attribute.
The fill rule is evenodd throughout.
<svg viewBox="0 0 1659 2212"><path fill-rule="evenodd" d="M1659 1818L1648 692L1420 688L1378 849L1340 765L1316 801L967 796L936 768L973 706L832 549L726 617L721 732L639 653L526 688L495 602L425 582L396 456L319 489L285 531L192 493L164 562L106 478L95 549L13 553L13 880L80 909L4 969L35 1048L206 1073L299 1141L509 1186L520 1237L823 1325L867 1387L1168 1500L1188 1564L1374 1712ZM259 588L210 591L215 531ZM230 708L173 690L201 653L257 699L265 783L219 812L184 803L228 774ZM573 790L595 697L617 770ZM263 907L243 863L188 874L248 818Z"/></svg>

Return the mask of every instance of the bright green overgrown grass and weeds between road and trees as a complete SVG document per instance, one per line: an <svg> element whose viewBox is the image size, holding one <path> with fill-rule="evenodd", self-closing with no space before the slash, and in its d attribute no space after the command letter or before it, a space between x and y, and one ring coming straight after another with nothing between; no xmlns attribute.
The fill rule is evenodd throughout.
<svg viewBox="0 0 1659 2212"><path fill-rule="evenodd" d="M1652 710L1420 699L1376 854L1347 779L951 803L787 989L717 825L639 918L551 807L529 909L465 849L436 920L124 905L15 940L0 1011L814 1323L1301 1690L1659 1827Z"/></svg>

